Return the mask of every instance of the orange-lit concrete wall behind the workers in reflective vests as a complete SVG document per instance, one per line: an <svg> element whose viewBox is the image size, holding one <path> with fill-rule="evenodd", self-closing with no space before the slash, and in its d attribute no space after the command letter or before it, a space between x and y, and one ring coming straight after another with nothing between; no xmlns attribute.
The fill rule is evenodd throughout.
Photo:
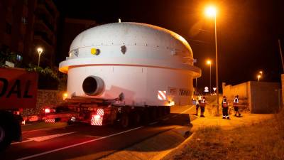
<svg viewBox="0 0 284 160"><path fill-rule="evenodd" d="M246 97L252 113L271 113L280 107L280 84L278 82L244 82L239 85L223 85L223 95L229 101L235 95Z"/></svg>

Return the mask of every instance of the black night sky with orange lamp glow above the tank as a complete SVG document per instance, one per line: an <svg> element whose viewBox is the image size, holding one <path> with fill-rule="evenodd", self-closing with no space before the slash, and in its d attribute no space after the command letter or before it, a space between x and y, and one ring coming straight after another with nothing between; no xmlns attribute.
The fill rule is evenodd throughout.
<svg viewBox="0 0 284 160"><path fill-rule="evenodd" d="M283 48L283 0L54 1L61 18L91 19L99 24L114 23L121 18L121 21L149 23L180 34L192 47L197 59L195 65L202 69L202 77L197 80L200 89L209 86L209 66L205 60L215 58L214 20L204 16L204 7L215 4L219 87L221 82L236 85L257 80L259 70L263 70L263 81L280 82L283 71L278 38ZM213 62L212 87L214 84Z"/></svg>

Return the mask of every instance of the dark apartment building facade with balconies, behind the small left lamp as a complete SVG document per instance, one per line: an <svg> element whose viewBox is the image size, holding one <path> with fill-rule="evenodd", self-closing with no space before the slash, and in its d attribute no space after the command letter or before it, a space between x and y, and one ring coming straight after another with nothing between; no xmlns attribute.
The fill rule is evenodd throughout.
<svg viewBox="0 0 284 160"><path fill-rule="evenodd" d="M24 65L53 68L59 12L51 0L0 1L0 47L17 54Z"/></svg>

